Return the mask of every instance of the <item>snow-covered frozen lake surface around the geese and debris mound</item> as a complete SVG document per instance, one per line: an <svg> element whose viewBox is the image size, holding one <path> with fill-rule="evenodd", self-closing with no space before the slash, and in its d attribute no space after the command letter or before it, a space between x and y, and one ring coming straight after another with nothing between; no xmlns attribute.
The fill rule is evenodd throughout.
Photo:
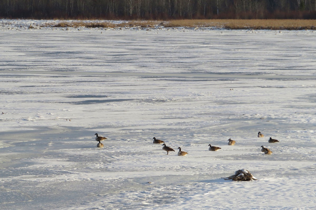
<svg viewBox="0 0 316 210"><path fill-rule="evenodd" d="M1 209L315 209L314 31L0 40ZM258 181L221 178L238 169Z"/></svg>

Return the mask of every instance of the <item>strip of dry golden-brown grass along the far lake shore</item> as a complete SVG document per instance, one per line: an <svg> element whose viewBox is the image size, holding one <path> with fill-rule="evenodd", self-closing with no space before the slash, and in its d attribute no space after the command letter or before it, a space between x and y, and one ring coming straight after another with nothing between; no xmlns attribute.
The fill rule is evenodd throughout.
<svg viewBox="0 0 316 210"><path fill-rule="evenodd" d="M211 20L170 20L170 21L126 21L112 23L106 21L72 21L60 22L54 27L86 27L86 28L115 28L115 27L141 27L151 28L162 25L164 27L191 27L205 28L218 27L226 29L271 29L271 30L316 30L316 20L293 20L293 19L211 19Z"/></svg>

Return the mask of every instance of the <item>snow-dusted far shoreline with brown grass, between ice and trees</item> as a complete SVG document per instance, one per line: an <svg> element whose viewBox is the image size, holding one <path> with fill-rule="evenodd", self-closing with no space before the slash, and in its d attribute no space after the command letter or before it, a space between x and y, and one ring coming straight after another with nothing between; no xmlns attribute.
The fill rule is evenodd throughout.
<svg viewBox="0 0 316 210"><path fill-rule="evenodd" d="M0 19L0 29L191 29L191 30L316 30L316 20L206 19L170 21Z"/></svg>

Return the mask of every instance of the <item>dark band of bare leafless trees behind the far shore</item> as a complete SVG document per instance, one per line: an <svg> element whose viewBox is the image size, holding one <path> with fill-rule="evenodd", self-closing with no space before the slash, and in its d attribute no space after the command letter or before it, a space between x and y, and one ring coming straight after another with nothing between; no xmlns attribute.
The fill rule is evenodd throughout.
<svg viewBox="0 0 316 210"><path fill-rule="evenodd" d="M0 0L0 17L316 19L316 0Z"/></svg>

